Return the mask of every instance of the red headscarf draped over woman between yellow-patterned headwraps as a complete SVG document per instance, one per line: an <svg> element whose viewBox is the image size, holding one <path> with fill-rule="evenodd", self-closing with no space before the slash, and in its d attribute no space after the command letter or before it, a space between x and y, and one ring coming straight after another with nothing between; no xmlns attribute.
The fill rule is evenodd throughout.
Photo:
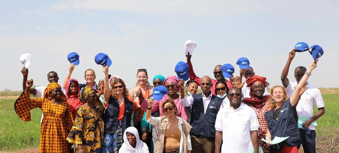
<svg viewBox="0 0 339 153"><path fill-rule="evenodd" d="M77 82L78 84L78 91L77 91L77 94L75 95L69 95L69 86L71 86L71 82L72 81L75 81ZM82 101L80 101L80 99L78 98L78 94L79 94L79 91L80 91L80 87L79 87L79 83L76 79L68 79L67 82L66 82L66 97L67 97L67 102L68 104L71 106L71 109L72 109L72 117L73 117L73 120L75 119L75 117L77 116L77 111L78 111L78 108L83 105L84 103Z"/></svg>

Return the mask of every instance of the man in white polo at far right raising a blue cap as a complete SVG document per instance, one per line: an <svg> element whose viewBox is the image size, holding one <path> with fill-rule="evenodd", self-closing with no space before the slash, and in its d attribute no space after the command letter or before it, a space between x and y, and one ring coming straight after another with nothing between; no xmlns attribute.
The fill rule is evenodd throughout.
<svg viewBox="0 0 339 153"><path fill-rule="evenodd" d="M294 71L294 77L296 82L290 82L288 80L288 70L290 69L291 62L295 57L296 49L293 49L289 53L288 60L281 74L281 82L283 86L286 88L287 94L290 97L294 92L295 87L299 83L300 79L304 76L306 72L306 68L299 66ZM302 147L304 152L307 153L315 153L316 152L316 132L315 127L310 124L317 119L319 119L325 113L325 105L322 99L321 93L318 88L310 85L307 82L307 90L301 95L298 105L296 107L298 117L307 117L310 118L302 124L303 128L299 128L301 139L302 139ZM318 108L318 112L313 115L313 106L316 105ZM307 134L305 129L309 128L311 133ZM299 146L300 147L300 146Z"/></svg>

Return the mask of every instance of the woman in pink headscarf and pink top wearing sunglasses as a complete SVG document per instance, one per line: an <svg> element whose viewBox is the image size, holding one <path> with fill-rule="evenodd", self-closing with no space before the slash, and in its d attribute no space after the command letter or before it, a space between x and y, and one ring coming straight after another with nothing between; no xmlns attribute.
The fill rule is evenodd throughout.
<svg viewBox="0 0 339 153"><path fill-rule="evenodd" d="M174 103L176 104L177 113L176 116L181 117L185 119L185 121L188 121L188 116L185 107L181 106L180 104L180 96L177 94L177 92L180 92L180 95L185 95L184 91L184 81L178 80L176 76L168 76L164 81L164 86L167 88L168 95L164 95L164 97L161 100L155 100L154 105L152 107L152 113L156 111L160 111L160 116L163 116L164 113L162 112L161 105L166 99L172 99ZM179 87L180 86L180 87ZM147 110L147 103L141 103L141 108L146 111Z"/></svg>

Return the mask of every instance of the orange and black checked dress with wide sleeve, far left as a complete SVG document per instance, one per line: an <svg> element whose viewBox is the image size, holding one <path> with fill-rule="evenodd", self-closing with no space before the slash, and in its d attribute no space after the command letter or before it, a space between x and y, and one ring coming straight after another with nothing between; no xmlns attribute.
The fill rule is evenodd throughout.
<svg viewBox="0 0 339 153"><path fill-rule="evenodd" d="M14 109L22 121L31 121L30 110L41 108L44 118L41 125L40 153L68 153L67 135L72 128L71 107L67 101L54 104L44 98L29 98L22 93L14 104Z"/></svg>

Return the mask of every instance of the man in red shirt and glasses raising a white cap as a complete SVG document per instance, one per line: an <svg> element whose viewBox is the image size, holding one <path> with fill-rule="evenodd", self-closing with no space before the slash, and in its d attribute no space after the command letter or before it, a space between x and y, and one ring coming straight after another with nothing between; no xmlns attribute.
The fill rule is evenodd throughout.
<svg viewBox="0 0 339 153"><path fill-rule="evenodd" d="M190 55L190 53L188 53L188 55L186 55L187 65L190 67L190 69L188 70L188 72L190 74L190 79L195 80L200 84L201 78L199 78L193 71L193 66L192 66L192 63L191 63L191 57L192 57L192 55ZM214 74L214 77L216 78L216 79L212 79L212 82L211 82L212 84L214 84L211 87L211 91L212 91L213 95L215 95L215 84L218 81L225 81L226 84L227 84L227 87L229 89L233 87L232 83L229 80L226 80L225 76L223 76L223 73L221 71L221 65L217 65L217 66L214 67L213 74Z"/></svg>

